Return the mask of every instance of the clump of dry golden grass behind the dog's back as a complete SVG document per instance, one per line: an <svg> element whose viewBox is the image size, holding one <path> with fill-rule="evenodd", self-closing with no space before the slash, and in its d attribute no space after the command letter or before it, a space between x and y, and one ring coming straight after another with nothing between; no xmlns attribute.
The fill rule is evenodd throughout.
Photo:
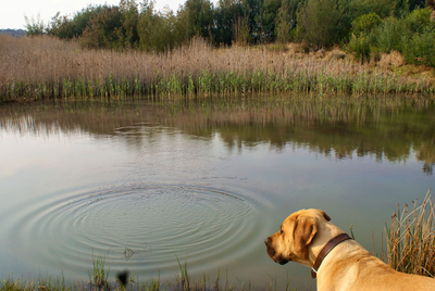
<svg viewBox="0 0 435 291"><path fill-rule="evenodd" d="M435 277L435 204L431 200L431 189L423 203L417 202L411 211L405 204L398 206L386 226L387 254L389 265L403 273Z"/></svg>

